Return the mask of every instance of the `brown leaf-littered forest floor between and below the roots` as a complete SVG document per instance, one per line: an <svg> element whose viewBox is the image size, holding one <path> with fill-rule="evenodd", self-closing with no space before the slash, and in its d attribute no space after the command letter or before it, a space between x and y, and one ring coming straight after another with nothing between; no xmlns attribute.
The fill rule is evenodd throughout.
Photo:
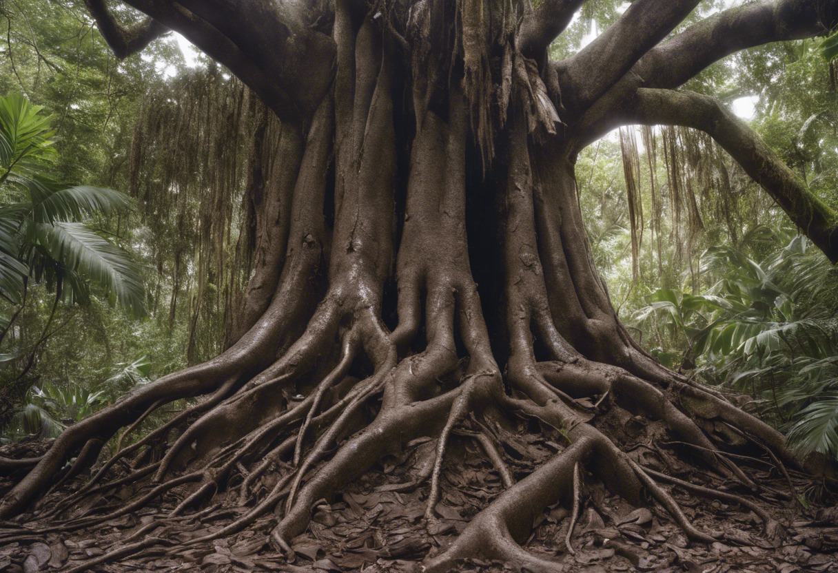
<svg viewBox="0 0 838 573"><path fill-rule="evenodd" d="M660 506L649 503L648 508L634 508L610 495L590 474L583 474L581 508L572 536L575 553L571 554L565 547L571 512L562 505L547 508L535 520L533 533L525 543L527 550L556 562L557 570L573 573L838 571L838 506L804 508L799 503L782 499L782 495L745 493L741 486L726 484L722 478L679 462L675 454L680 453L683 459L684 452L671 449L676 445L660 446L663 441L651 441L655 435L663 439L662 427L652 423L643 430L629 451L636 461L692 483L721 489L729 486L731 491L767 508L784 526L784 535L769 539L763 533L761 521L745 508L697 498L679 486L666 486L693 523L717 539L711 545L694 543L685 538ZM16 452L8 452L8 448L0 448L0 455L23 455L19 448ZM31 529L49 523L39 523L31 516L24 516L28 521L23 523L23 529L20 523L0 523L0 534L17 534L18 537L11 543L0 544L0 571L70 570L86 560L122 547L128 541L142 539L137 536L130 539L141 528L144 528L141 535L149 534L171 543L151 545L139 553L96 565L91 570L112 573L163 570L401 573L416 570L416 564L427 555L444 550L465 528L468 519L502 488L498 474L477 441L465 435L454 436L443 471L442 499L437 505L439 519L426 524L423 515L427 483L412 489L399 488L399 484L411 481L412 472L433 455L434 448L435 441L430 438L411 442L401 457L385 457L370 472L344 488L333 503L324 500L313 511L308 532L292 539L296 555L290 559L278 554L267 542L267 534L277 520L272 514L226 539L181 545L220 529L249 509L236 505L235 488L229 498L220 493L208 507L196 509L177 518L176 522L168 520L161 529L149 531L153 526L148 524L168 514L184 498L186 492L175 489L146 508L90 529L36 533ZM523 478L561 449L551 440L551 431L527 427L522 421L517 432L504 436L502 456L515 478ZM768 486L778 494L789 492L789 481L770 465L770 459L754 460L749 471L762 486ZM829 493L813 487L811 478L789 473L797 493L808 493L810 497L818 494L825 501L830 500ZM263 487L269 491L279 474L277 471L266 476ZM76 482L76 487L79 484ZM0 478L0 493L10 485ZM51 496L57 499L70 492L72 486L71 483ZM114 508L141 487L127 485L106 495L87 498L71 514ZM514 568L512 563L469 561L459 570L488 573Z"/></svg>

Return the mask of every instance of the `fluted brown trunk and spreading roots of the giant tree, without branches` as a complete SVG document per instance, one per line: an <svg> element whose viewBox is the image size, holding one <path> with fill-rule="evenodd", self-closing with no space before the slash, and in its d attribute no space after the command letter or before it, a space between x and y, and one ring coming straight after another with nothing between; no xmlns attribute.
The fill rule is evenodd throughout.
<svg viewBox="0 0 838 573"><path fill-rule="evenodd" d="M720 436L738 432L742 442L765 448L779 466L801 464L778 432L720 393L655 363L619 323L584 240L572 157L561 147L556 122L552 131L545 129L545 86L529 73L532 63L511 47L504 55L514 69L511 85L503 85L511 94L510 109L496 134L502 137L494 163L483 165L484 177L472 181L467 166L477 162L470 158L469 139L477 137L482 146L489 137L485 130L494 129L469 121L475 102L467 101L460 85L473 95L482 89L476 76L461 82L463 70L455 66L445 79L414 78L413 97L395 99L404 78L397 75L401 59L394 42L406 40L386 34L386 18L365 13L365 3L334 4L334 92L305 134L292 212L283 214L289 219L286 255L268 257L283 261L272 297L261 291L273 284L278 269L254 275L260 294L253 308L266 306L264 314L218 358L159 379L71 426L39 460L0 460L2 468L34 465L0 504L0 515L10 517L56 476L64 484L77 478L96 462L99 448L128 426L116 452L76 493L56 502L56 488L36 506L40 529L10 525L0 541L93 529L165 496L165 503L173 500L165 517L142 524L124 540L127 545L76 570L167 545L168 532L184 519L210 515L233 517L178 544L184 555L256 524L271 529L273 548L290 556L292 539L308 528L323 499L420 439L435 440L431 455L407 483L388 483L380 491L406 491L429 481L427 526L442 511L444 462L458 434L479 442L500 476L502 486L493 491L502 492L447 550L425 561L427 571L451 570L471 557L505 560L522 570L560 570L521 544L535 516L563 502L573 508L565 545L574 550L586 472L630 504L654 499L699 542L713 538L691 523L660 483L739 503L763 519L769 534L778 531L772 515L744 497L764 487L733 462L747 457L726 451ZM431 4L460 5L420 4L411 26L436 9ZM451 24L452 34L458 25ZM424 29L417 27L411 41L421 43ZM424 56L439 64L449 54ZM408 167L407 158L398 157L408 146L397 137L394 116L411 100L416 133ZM334 205L324 201L327 192ZM494 233L485 242L496 245L468 244L467 199L480 204L481 217L491 217L496 227L484 230L484 238ZM327 230L333 206L334 229ZM489 282L484 290L474 281L474 260L492 267L480 269ZM481 302L481 296L488 300ZM245 323L252 322L251 311L246 309ZM159 407L199 395L209 396L123 447ZM558 451L524 478L520 467L504 459L504 447L496 446L512 415L524 418L530 431L541 423L551 434L551 451ZM744 486L746 493L697 486L646 467L631 451L633 437L609 431L632 415L651 421L658 432L644 438L677 436L691 464L727 488ZM668 455L659 453L662 459ZM67 464L74 456L75 463ZM121 477L118 470L128 474ZM101 504L125 485L133 488L130 500Z"/></svg>

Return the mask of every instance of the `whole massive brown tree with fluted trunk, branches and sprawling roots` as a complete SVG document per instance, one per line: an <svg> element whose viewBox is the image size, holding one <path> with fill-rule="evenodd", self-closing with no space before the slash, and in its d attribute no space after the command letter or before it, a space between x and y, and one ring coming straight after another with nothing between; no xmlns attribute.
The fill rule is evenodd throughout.
<svg viewBox="0 0 838 573"><path fill-rule="evenodd" d="M287 550L315 503L386 453L432 436L436 457L416 483L430 482L433 519L449 438L468 418L505 490L423 566L442 571L488 556L551 570L519 544L535 514L578 495L583 467L630 503L649 493L689 537L712 540L659 485L667 476L597 429L614 410L661 421L694 447L698 463L747 488L758 486L722 451L731 432L786 465L811 466L778 431L663 368L632 340L593 266L574 163L617 126L702 130L838 261L835 212L719 101L679 89L738 50L827 33L838 24L838 2L759 0L672 34L698 0L635 0L561 61L548 47L584 0L127 0L148 17L133 28L105 0L85 3L118 56L176 30L292 129L283 130L281 176L266 177L258 152L251 159L259 255L229 348L70 426L44 457L5 461L31 469L0 515L20 514L55 481L91 467L122 427L120 443L153 410L200 395L140 441L117 446L46 514L111 487L108 472L135 456L118 483L144 480L142 495L75 524L100 523L191 484L178 514L236 476L240 502L252 508L213 536L276 509L272 543ZM264 132L263 121L257 148ZM370 405L377 413L365 419ZM511 415L534 417L565 438L561 452L518 483L492 431ZM162 457L143 453L169 434ZM282 460L290 469L255 499L256 481L280 471ZM693 491L753 506L776 526L732 493Z"/></svg>

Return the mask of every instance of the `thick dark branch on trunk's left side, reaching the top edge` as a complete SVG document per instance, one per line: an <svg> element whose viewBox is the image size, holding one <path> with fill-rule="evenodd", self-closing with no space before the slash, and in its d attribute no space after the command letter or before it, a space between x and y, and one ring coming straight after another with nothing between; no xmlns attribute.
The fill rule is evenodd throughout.
<svg viewBox="0 0 838 573"><path fill-rule="evenodd" d="M283 121L308 121L332 83L334 40L310 27L310 3L126 2L225 65Z"/></svg>

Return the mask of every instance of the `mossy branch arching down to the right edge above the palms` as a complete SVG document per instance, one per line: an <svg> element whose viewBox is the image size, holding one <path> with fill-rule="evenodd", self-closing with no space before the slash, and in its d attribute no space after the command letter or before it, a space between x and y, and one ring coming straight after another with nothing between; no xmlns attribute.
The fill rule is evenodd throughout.
<svg viewBox="0 0 838 573"><path fill-rule="evenodd" d="M794 221L799 230L838 262L838 213L812 194L806 183L747 124L713 98L689 91L637 91L629 123L677 125L707 132L736 159Z"/></svg>

